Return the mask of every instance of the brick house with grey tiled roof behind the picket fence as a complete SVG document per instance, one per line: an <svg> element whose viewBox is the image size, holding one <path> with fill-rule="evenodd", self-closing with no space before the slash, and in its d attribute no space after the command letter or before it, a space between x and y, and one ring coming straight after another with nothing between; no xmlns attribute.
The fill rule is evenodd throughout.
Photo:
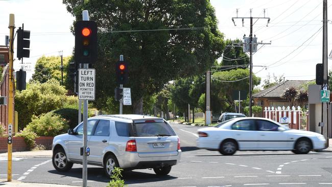
<svg viewBox="0 0 332 187"><path fill-rule="evenodd" d="M286 100L281 98L284 91L290 87L295 87L299 91L303 91L304 84L309 81L305 80L286 80L282 81L272 87L259 91L252 95L254 100L255 106L262 106L264 109L265 107L282 107L282 106L289 106L290 103ZM292 107L292 106L290 106Z"/></svg>

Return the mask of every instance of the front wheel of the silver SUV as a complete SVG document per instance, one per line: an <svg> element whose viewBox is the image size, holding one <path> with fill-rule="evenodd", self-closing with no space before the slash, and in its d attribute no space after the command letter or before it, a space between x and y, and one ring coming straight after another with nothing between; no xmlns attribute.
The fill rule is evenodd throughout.
<svg viewBox="0 0 332 187"><path fill-rule="evenodd" d="M59 172L66 172L73 167L73 162L67 160L63 149L56 149L52 156L53 167Z"/></svg>

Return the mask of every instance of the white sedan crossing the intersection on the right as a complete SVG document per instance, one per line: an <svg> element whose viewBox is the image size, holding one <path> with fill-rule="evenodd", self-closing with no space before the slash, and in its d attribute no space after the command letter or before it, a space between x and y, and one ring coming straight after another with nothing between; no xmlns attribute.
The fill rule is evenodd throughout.
<svg viewBox="0 0 332 187"><path fill-rule="evenodd" d="M326 148L323 135L290 129L265 118L234 118L214 127L198 129L197 147L223 155L239 151L290 150L306 154Z"/></svg>

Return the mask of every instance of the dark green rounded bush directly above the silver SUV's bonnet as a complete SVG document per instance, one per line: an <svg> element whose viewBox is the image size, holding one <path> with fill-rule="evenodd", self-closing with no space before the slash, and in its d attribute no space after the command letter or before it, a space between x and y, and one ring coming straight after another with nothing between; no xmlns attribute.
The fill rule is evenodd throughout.
<svg viewBox="0 0 332 187"><path fill-rule="evenodd" d="M70 129L74 129L78 125L78 109L60 108L54 110L53 113L59 114L61 118L65 119ZM81 119L83 119L83 114Z"/></svg>

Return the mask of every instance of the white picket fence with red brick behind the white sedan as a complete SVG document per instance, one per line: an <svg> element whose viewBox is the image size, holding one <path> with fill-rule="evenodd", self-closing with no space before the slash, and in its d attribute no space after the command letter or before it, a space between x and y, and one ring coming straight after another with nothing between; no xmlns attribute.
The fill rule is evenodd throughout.
<svg viewBox="0 0 332 187"><path fill-rule="evenodd" d="M273 121L286 124L290 128L299 130L308 130L308 113L303 112L301 107L265 107L264 118L271 119Z"/></svg>

